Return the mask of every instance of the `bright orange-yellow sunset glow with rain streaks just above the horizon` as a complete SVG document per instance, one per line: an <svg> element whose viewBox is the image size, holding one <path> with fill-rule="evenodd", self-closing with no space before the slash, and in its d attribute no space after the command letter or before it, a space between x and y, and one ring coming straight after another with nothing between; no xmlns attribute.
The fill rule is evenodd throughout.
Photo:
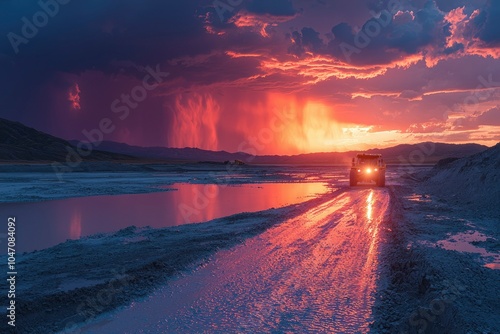
<svg viewBox="0 0 500 334"><path fill-rule="evenodd" d="M178 95L169 108L174 118L166 146L253 155L361 151L424 141L450 142L447 136L456 133L436 122L416 123L420 127L408 129L380 129L368 125L373 117L364 113L346 122L341 119L346 114L344 108L349 106L278 92L263 93L258 99L237 93L192 92ZM451 124L459 116L450 113L444 123ZM464 139L457 137L454 142L475 141L488 146L496 143L494 138L479 136L474 130L464 129L462 133Z"/></svg>

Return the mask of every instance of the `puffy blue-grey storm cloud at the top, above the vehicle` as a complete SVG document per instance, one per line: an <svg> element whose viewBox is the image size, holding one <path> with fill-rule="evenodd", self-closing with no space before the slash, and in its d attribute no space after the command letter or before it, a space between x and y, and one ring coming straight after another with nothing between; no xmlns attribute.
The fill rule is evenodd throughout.
<svg viewBox="0 0 500 334"><path fill-rule="evenodd" d="M426 45L438 41L443 43L446 35L446 29L440 26L444 16L433 2L414 8L399 1L377 4L368 1L364 10L371 10L372 17L363 23L359 31L350 23L341 22L331 29L333 39L323 42L313 28L302 29L292 34L294 45L289 51L300 55L304 49L309 49L358 64L385 64L401 54L415 54ZM393 20L399 11L410 19L401 22ZM378 16L379 13L382 14ZM387 49L393 50L391 54L387 53Z"/></svg>

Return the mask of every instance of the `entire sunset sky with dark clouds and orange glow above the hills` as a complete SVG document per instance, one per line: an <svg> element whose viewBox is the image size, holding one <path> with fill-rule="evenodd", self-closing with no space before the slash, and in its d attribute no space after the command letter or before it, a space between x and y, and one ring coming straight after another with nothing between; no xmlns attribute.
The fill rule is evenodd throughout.
<svg viewBox="0 0 500 334"><path fill-rule="evenodd" d="M499 22L486 0L3 0L0 117L257 154L493 145Z"/></svg>

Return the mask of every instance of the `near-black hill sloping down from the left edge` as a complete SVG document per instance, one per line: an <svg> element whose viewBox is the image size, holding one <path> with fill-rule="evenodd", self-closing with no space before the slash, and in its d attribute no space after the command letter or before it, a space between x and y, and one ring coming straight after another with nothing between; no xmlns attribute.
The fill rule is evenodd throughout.
<svg viewBox="0 0 500 334"><path fill-rule="evenodd" d="M68 149L76 150L76 147L66 140L0 118L0 161L66 161ZM137 160L128 155L100 150L93 150L90 155L81 158L83 161Z"/></svg>

